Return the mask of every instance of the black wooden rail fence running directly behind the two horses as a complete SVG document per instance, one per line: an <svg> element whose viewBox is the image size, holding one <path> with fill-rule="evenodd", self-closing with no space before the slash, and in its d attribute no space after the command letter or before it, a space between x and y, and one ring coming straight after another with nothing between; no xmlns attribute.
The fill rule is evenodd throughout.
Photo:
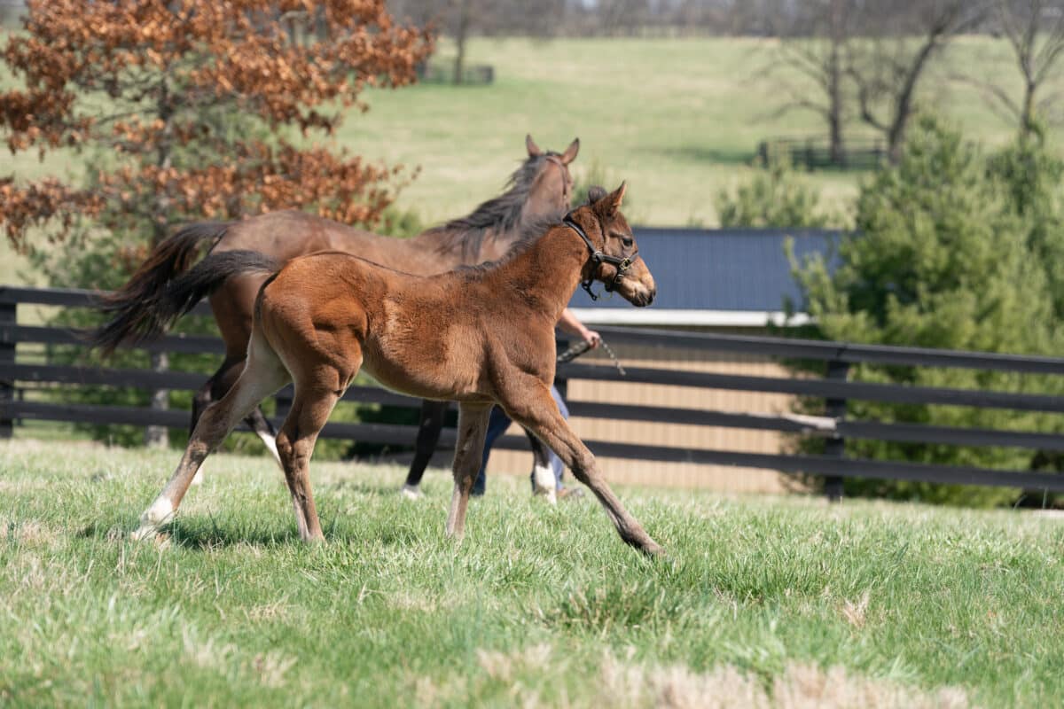
<svg viewBox="0 0 1064 709"><path fill-rule="evenodd" d="M171 427L187 425L188 413L181 410L63 404L27 399L26 394L35 388L76 385L134 387L147 390L193 390L203 383L204 375L189 372L122 370L47 362L23 364L18 355L17 345L19 344L78 344L80 340L74 333L64 328L19 324L17 313L19 304L87 307L92 305L92 294L87 291L0 286L0 437L11 436L14 423L24 419ZM202 304L199 308L200 313L206 311ZM609 365L570 362L559 366L559 378L778 392L820 398L825 400L825 415L765 416L668 406L569 401L569 410L572 416L809 434L826 437L829 443L826 446L825 455L788 455L642 445L614 440L585 441L598 455L645 460L742 466L786 473L824 475L828 480L827 493L831 497L838 497L842 494L842 478L850 476L1008 486L1064 492L1064 475L1023 470L991 470L895 460L869 460L847 457L845 450L847 439L876 439L1064 451L1064 437L1049 433L846 419L846 403L850 400L1064 413L1064 396L870 384L850 382L847 378L850 365L855 362L966 368L1026 375L1064 375L1064 359L918 348L860 345L819 340L672 333L626 327L599 327L599 332L611 343L655 348L661 351L662 358L667 357L670 351L675 352L679 349L819 360L825 362L826 376L824 378L765 377L632 367L626 368L626 374L621 376L614 367ZM213 337L170 335L155 342L147 343L142 349L170 353L220 353L221 344L220 340ZM344 400L398 406L417 405L417 402L408 396L373 386L353 386L348 389ZM380 423L329 423L322 431L322 436L326 437L396 445L410 445L415 435L415 426ZM440 441L442 449L453 449L453 429L445 429L444 438ZM499 445L521 449L527 443L519 436L503 436Z"/></svg>

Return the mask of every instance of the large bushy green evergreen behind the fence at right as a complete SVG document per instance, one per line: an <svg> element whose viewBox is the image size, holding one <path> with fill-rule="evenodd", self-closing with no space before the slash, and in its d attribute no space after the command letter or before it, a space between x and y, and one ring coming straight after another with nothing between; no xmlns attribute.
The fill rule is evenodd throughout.
<svg viewBox="0 0 1064 709"><path fill-rule="evenodd" d="M927 117L914 128L901 162L862 186L857 231L839 242L836 268L830 271L817 257L797 270L819 334L866 343L1060 354L1059 310L1038 247L1051 240L1032 237L1033 207L1017 198L1028 192L1016 180L1008 189L1000 176L1008 171L988 170L955 130ZM998 165L1024 159L1014 155ZM1024 172L1025 180L1046 178L1036 172ZM852 378L1038 393L1061 388L1049 377L962 369L860 366ZM887 422L1026 431L1052 425L1036 412L967 407L852 402L850 410L857 419ZM880 459L1012 469L1027 469L1031 460L1021 449L847 444L852 455ZM857 478L848 479L846 489L983 505L1016 496L1005 489Z"/></svg>

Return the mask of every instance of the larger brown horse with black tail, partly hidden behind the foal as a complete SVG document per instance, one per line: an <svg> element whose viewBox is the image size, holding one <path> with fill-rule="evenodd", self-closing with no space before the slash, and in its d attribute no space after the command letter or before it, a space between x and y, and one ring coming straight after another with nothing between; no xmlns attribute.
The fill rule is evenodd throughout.
<svg viewBox="0 0 1064 709"><path fill-rule="evenodd" d="M303 212L273 212L239 222L192 224L155 247L129 283L104 301L102 309L112 319L92 335L90 341L110 354L122 342L161 334L163 324L156 304L168 284L193 265L203 242L212 242L211 253L257 251L281 266L315 251L344 251L422 275L496 259L519 240L530 224L561 219L569 208L572 178L568 165L577 157L580 140L573 140L564 153L555 153L541 150L529 135L525 147L528 159L511 175L503 195L484 202L467 217L412 239L380 236ZM265 275L260 273L236 276L211 297L211 308L226 344L226 359L196 393L189 431L196 427L203 409L229 391L243 369L255 294L263 281ZM411 496L416 496L417 485L436 450L447 406L447 402L422 403L410 484L404 488ZM277 457L276 432L259 407L249 415L248 424ZM529 440L536 465L545 466L546 450L531 434ZM280 462L280 457L277 459Z"/></svg>

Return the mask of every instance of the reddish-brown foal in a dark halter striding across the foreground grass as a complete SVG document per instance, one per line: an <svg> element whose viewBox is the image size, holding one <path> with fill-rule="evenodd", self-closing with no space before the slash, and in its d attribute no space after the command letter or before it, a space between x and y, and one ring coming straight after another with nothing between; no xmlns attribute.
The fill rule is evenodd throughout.
<svg viewBox="0 0 1064 709"><path fill-rule="evenodd" d="M611 195L594 189L593 202L499 261L435 276L394 271L338 252L289 261L259 294L243 373L203 412L134 537L154 536L169 522L206 456L263 398L293 382L295 396L278 434L278 451L299 535L322 540L309 461L333 406L365 369L397 391L459 402L448 535L463 535L488 416L499 404L591 488L621 539L649 554L661 552L614 495L549 391L554 323L579 283L601 281L637 306L653 301L653 277L619 210L624 196L625 185ZM271 259L248 251L209 256L168 289L164 315L179 317L235 274L273 267Z"/></svg>

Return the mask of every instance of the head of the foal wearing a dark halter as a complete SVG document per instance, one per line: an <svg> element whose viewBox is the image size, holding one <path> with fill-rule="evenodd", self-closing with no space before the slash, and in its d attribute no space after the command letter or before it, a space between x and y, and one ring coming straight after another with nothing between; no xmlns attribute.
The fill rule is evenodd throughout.
<svg viewBox="0 0 1064 709"><path fill-rule="evenodd" d="M582 231L589 241L592 253L582 274L588 292L591 283L599 281L606 290L615 290L632 305L643 307L653 302L658 288L639 255L632 227L620 213L625 189L625 183L609 193L601 187L592 187L587 191L588 203L570 212L565 222L579 226L573 231L578 234Z"/></svg>

